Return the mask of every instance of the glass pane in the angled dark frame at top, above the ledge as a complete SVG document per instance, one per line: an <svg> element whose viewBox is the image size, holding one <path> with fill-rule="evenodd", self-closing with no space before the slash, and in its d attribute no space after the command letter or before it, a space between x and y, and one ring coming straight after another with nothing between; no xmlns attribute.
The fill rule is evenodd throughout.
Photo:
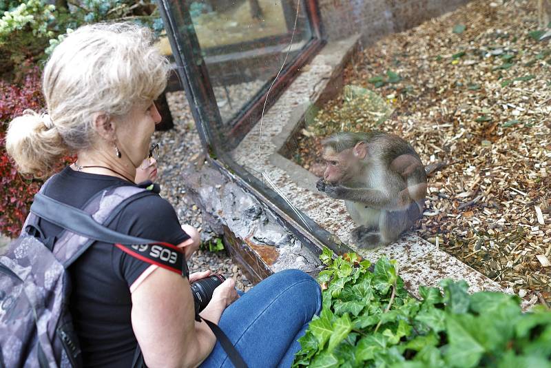
<svg viewBox="0 0 551 368"><path fill-rule="evenodd" d="M233 117L269 87L283 62L293 61L311 39L304 3L300 3L298 14L297 6L296 0L187 2L222 130L227 130Z"/></svg>

